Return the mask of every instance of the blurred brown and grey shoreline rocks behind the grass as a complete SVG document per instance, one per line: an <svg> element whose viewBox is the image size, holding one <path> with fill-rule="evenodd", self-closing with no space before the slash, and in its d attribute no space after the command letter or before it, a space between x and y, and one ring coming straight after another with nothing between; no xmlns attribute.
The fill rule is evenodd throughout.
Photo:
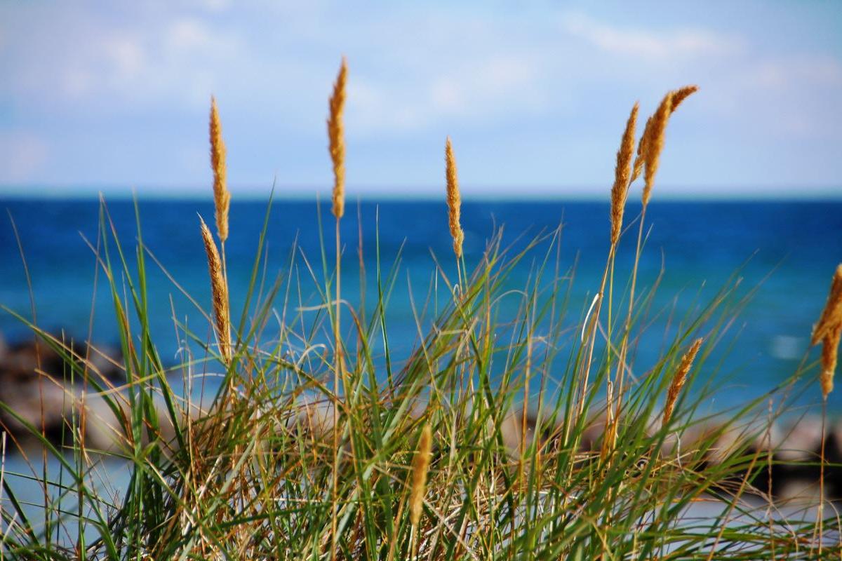
<svg viewBox="0 0 842 561"><path fill-rule="evenodd" d="M120 450L125 442L127 402L113 400L123 404L115 410L90 384L90 380L96 380L100 387L113 392L122 391L120 386L125 384L125 374L121 353L113 347L85 344L74 345L73 352L79 357L86 357L83 364L88 373L87 388L82 379L67 372L63 357L45 342L36 345L30 339L7 343L0 336L0 430L8 433L11 441L6 443L7 453L38 446L39 438L29 427L42 432L42 425L45 439L56 447L72 442L71 431L78 431L80 426L84 426L84 442L90 450L105 453ZM169 417L163 405L157 406L158 418L162 421L157 439L170 445L174 428L168 425ZM306 426L306 430L321 435L332 431L333 410L329 405L314 405L305 400L300 409L291 421L299 429ZM501 432L509 453L519 453L521 435L526 434L531 439L535 434L536 418L530 413L526 415L525 431L521 426L522 411L505 415ZM594 421L584 433L583 453L600 451L600 415L592 415L592 418ZM542 434L547 432L546 427L541 429ZM693 426L685 431L680 442L675 438L664 442L663 452L676 454L681 449L690 450L695 442L715 433L717 426L712 422ZM770 493L781 500L818 499L819 458L823 445L826 458L825 496L842 500L842 419L830 418L824 434L822 442L822 420L818 415L809 415L776 421L767 431L768 437L751 442L747 453L758 453L761 468L760 474L751 482L755 492ZM740 437L736 431L723 431L706 455L706 462L722 462ZM771 463L766 459L766 451L770 447L775 450Z"/></svg>

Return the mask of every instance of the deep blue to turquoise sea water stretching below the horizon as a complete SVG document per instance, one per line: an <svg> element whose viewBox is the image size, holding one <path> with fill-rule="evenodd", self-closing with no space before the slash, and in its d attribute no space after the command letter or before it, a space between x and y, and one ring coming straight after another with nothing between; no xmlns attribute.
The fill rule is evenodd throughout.
<svg viewBox="0 0 842 561"><path fill-rule="evenodd" d="M85 338L88 325L93 325L94 341L116 345L113 306L101 272L99 288L93 290L95 260L88 243L93 246L98 243L98 201L0 198L0 208L8 209L19 232L38 325L53 331L63 329L77 339ZM470 266L479 260L496 227L504 227L504 241L513 244L516 251L525 241L562 225L560 270L567 272L575 264L569 301L570 321L574 322L599 288L608 247L608 210L608 204L562 200L468 200L462 208L466 262ZM181 287L208 308L210 288L197 213L212 228L212 204L195 200L141 200L138 211L143 241L149 251ZM265 211L265 202L232 204L226 255L236 318L248 286ZM127 257L132 259L136 246L134 204L112 201L108 212ZM630 203L626 224L632 224L638 213L639 206ZM301 255L311 263L317 278L324 274L317 216L315 202L283 199L274 201L269 214L264 255L267 282L275 274L287 278L290 251L296 246L293 292L298 290L300 279L305 304L317 304L317 299L308 288L312 282L307 280L309 273ZM330 263L333 262L333 216L328 205L322 205L322 219ZM405 356L417 338L408 294L413 294L417 306L424 303L433 282L435 258L442 263L445 273L451 278L455 276L445 204L420 200L348 204L342 230L343 291L352 303L359 301L354 294L360 293L360 238L369 302L373 300L375 287L378 231L384 267L388 269L400 257L396 288L388 310L389 336L397 357L402 353ZM625 278L631 267L636 235L635 224L621 243L616 267L618 278ZM511 288L523 288L546 248L544 244L520 262L507 281ZM652 286L659 274L663 272L663 275L649 316L648 332L654 335L642 339L636 355L637 372L645 371L647 365L657 361L664 338L674 332L678 318L711 299L738 272L742 279L739 294L756 290L722 341L722 365L713 372L711 363L710 375L725 380L715 405L733 405L775 387L802 361L813 322L818 319L834 267L839 262L842 262L842 202L839 201L653 202L647 210L647 244L640 263L639 285ZM152 260L147 260L147 268L152 333L164 360L175 363L179 359L180 343L173 327L173 309L179 320L187 320L196 333L210 334L210 328ZM625 284L621 282L618 286L622 290ZM285 284L281 294L284 291ZM0 304L31 317L29 288L18 242L6 213L0 217ZM514 315L516 299L507 305L503 313ZM19 320L2 311L0 333L8 341L28 336ZM813 349L809 360L817 357L818 349ZM706 375L705 371L702 375ZM831 410L842 411L840 394L831 394ZM802 400L818 403L818 389L812 394L807 391Z"/></svg>

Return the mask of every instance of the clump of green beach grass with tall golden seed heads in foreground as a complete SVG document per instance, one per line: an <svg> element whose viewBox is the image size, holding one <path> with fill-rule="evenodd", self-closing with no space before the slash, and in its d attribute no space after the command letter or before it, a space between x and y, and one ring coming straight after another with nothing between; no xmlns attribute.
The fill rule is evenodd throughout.
<svg viewBox="0 0 842 561"><path fill-rule="evenodd" d="M373 249L374 301L340 284L349 258L338 227L348 79L343 61L328 118L335 239L318 205L320 255L290 241L286 266L270 270L270 199L242 310L230 310L230 193L213 103L219 246L204 220L184 220L184 236L204 241L212 299L186 294L206 325L173 320L184 341L178 364L165 363L149 329L154 248L139 218L136 242L125 247L104 202L89 243L112 295L125 384L110 384L76 347L18 315L82 385L74 400L108 405L115 446L86 442L86 424L96 420L84 406L61 447L26 423L41 444L31 476L44 486L44 504L35 520L3 479L4 558L840 558L833 508L781 505L762 485L776 461L771 423L798 392L818 388L808 385L820 368L807 349L775 392L715 419L706 412L717 392L706 381L721 368L711 357L731 341L728 328L752 294L738 274L676 320L657 362L635 363L658 289L637 271L646 208L669 118L695 87L666 95L637 157L632 108L605 193L606 256L583 256L605 258L605 272L584 303L570 299L575 267L561 256L562 225L516 248L501 230L488 232L483 251L463 251L448 138L442 212L454 252L431 258L424 299L410 303L417 339L399 356L386 310L401 282L400 255ZM631 195L642 197L642 213L624 224ZM617 273L619 241L635 235L632 270ZM530 275L513 288L519 266ZM514 315L504 300L516 303ZM189 389L203 377L216 380L213 392L195 400ZM13 404L0 407L16 415ZM16 443L3 446L13 453ZM100 480L114 461L131 472L116 495Z"/></svg>

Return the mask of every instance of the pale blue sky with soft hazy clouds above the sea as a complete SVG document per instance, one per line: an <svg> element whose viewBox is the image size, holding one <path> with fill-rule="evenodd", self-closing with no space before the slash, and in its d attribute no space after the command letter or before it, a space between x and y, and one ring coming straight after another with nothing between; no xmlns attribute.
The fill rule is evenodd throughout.
<svg viewBox="0 0 842 561"><path fill-rule="evenodd" d="M349 194L603 197L632 103L674 115L664 197L842 192L842 3L0 3L0 193L327 192L349 61Z"/></svg>

